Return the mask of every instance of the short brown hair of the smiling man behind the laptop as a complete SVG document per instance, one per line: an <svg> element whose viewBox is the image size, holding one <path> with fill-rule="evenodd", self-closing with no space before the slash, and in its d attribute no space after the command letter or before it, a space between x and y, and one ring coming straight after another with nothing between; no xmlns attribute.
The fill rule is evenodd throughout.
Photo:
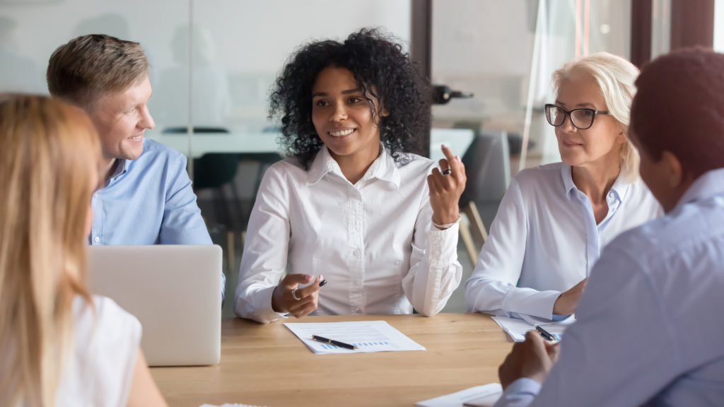
<svg viewBox="0 0 724 407"><path fill-rule="evenodd" d="M125 91L146 75L148 59L140 43L92 34L59 46L46 79L51 95L89 109L106 93Z"/></svg>

